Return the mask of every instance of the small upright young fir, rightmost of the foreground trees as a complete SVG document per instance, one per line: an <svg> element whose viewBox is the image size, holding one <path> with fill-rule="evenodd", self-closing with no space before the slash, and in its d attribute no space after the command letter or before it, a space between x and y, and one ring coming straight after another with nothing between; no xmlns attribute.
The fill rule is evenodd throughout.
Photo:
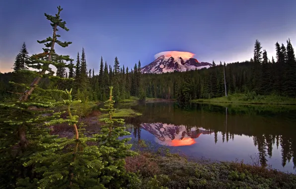
<svg viewBox="0 0 296 189"><path fill-rule="evenodd" d="M125 170L125 158L128 156L133 156L136 153L131 151L131 144L126 144L131 138L123 138L119 140L119 137L130 135L128 131L125 131L124 119L114 119L112 118L115 108L113 107L112 90L110 87L109 99L105 101L105 107L100 110L103 112L108 112L108 117L101 118L101 122L106 124L102 126L100 134L95 135L99 141L99 149L102 153L103 162L108 162L105 168L102 170L102 180L106 181L105 187L108 189L118 189L123 188L137 179L134 175L129 174ZM132 186L130 186L132 188Z"/></svg>

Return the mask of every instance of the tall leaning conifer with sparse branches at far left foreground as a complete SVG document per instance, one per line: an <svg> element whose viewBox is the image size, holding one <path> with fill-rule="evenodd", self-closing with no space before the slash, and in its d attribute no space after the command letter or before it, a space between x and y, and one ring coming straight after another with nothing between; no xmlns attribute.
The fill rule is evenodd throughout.
<svg viewBox="0 0 296 189"><path fill-rule="evenodd" d="M4 170L2 169L3 165L8 165L11 161L14 162L11 166L12 170L10 170L13 177L7 178L7 181L5 181L10 182L9 185L13 188L15 188L13 183L18 177L34 177L34 173L31 172L32 167L22 169L20 165L22 161L26 160L29 154L34 152L38 153L39 141L49 136L49 129L40 126L40 124L46 121L53 121L61 115L61 112L53 113L53 110L47 109L59 104L59 102L56 102L51 96L55 93L61 93L61 91L44 90L40 88L38 84L42 78L66 80L53 76L54 72L50 68L50 65L57 68L67 67L68 65L64 62L58 62L58 60L71 60L69 56L56 54L54 49L55 44L61 47L67 47L71 44L71 42L59 41L58 37L60 37L60 35L56 33L58 27L69 31L66 27L66 22L60 18L60 12L62 10L63 8L58 6L58 13L55 14L55 16L45 13L46 18L52 22L53 36L42 41L37 41L45 45L46 48L43 48L44 52L32 55L29 60L26 61L26 65L29 68L37 69L38 71L22 70L23 73L35 76L33 83L27 86L26 84L11 82L13 85L25 87L27 90L22 94L19 100L8 104L0 104L0 161L3 161L0 162L0 169ZM45 114L48 115L44 116ZM12 148L16 148L18 152L13 152ZM9 172L9 170L6 171ZM2 177L1 175L0 177L4 179L4 176ZM31 184L32 183L30 183L30 185Z"/></svg>

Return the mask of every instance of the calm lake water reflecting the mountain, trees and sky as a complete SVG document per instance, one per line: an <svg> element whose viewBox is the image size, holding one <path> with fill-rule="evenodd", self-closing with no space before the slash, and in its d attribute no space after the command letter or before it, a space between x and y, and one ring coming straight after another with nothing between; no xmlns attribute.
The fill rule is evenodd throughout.
<svg viewBox="0 0 296 189"><path fill-rule="evenodd" d="M119 106L143 113L126 119L133 124L131 137L136 139L218 161L243 159L250 163L250 156L257 154L261 164L295 173L295 106L177 102Z"/></svg>

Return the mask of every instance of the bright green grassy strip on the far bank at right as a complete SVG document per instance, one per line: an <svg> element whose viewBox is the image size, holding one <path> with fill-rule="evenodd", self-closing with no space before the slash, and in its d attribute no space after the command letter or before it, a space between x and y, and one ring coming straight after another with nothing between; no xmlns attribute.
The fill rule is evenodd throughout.
<svg viewBox="0 0 296 189"><path fill-rule="evenodd" d="M254 93L233 94L209 98L209 99L194 99L191 102L216 102L216 103L246 103L246 104L284 104L296 105L296 98L279 96L279 95L256 95Z"/></svg>

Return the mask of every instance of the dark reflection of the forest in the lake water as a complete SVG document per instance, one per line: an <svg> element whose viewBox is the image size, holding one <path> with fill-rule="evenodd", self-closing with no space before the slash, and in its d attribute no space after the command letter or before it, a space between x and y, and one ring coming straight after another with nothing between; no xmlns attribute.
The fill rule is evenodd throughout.
<svg viewBox="0 0 296 189"><path fill-rule="evenodd" d="M134 109L143 113L140 117L127 118L134 125L135 138L141 139L142 122L185 125L187 132L192 127L203 127L214 131L215 144L221 140L219 132L223 143L231 139L234 141L234 135L253 137L262 165L267 165L267 158L272 158L273 147L278 149L280 145L282 166L285 167L292 160L296 167L296 128L291 121L291 110L277 110L269 106L231 106L227 107L226 113L225 107L217 105L171 102L147 103L145 106L135 106Z"/></svg>

